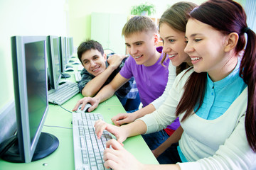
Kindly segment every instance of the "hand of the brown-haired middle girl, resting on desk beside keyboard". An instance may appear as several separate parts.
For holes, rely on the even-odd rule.
[[[112,123],[114,125],[123,125],[125,123],[132,123],[136,119],[136,115],[134,113],[119,113],[111,118]]]

